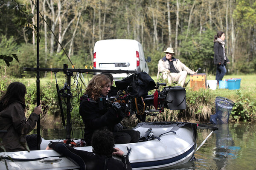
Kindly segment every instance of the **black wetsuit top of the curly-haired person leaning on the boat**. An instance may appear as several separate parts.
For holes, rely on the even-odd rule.
[[[123,156],[122,161],[119,161],[105,155],[76,150],[60,142],[53,142],[49,147],[76,161],[81,170],[132,170],[128,156]]]

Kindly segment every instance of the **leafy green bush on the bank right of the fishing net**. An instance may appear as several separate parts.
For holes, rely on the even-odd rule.
[[[250,101],[248,98],[245,98],[241,91],[238,90],[236,94],[239,96],[239,99],[235,102],[231,115],[233,118],[238,121],[256,121],[256,102]]]

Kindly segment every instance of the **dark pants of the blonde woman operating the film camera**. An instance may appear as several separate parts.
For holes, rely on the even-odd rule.
[[[137,130],[120,130],[113,132],[115,144],[135,143],[140,138],[140,132]]]

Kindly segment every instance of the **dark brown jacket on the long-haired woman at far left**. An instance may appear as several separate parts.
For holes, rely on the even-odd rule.
[[[0,130],[7,130],[7,133],[0,133],[3,146],[7,152],[26,150],[23,145],[26,143],[26,135],[35,128],[39,116],[31,113],[26,119],[24,109],[18,102],[14,102],[0,112]]]

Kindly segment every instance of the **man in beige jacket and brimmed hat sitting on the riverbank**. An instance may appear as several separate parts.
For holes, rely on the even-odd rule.
[[[173,81],[178,82],[181,87],[184,87],[187,74],[195,74],[195,71],[190,70],[179,59],[174,58],[173,48],[168,47],[166,56],[158,61],[158,72],[162,72],[163,79],[167,79],[169,84]]]

